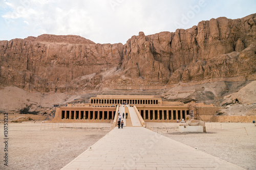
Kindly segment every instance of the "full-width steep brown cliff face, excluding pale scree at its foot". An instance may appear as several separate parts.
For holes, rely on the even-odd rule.
[[[124,45],[72,35],[0,41],[0,83],[63,92],[169,89],[241,76],[255,80],[255,23],[256,14],[220,17],[174,33],[140,32]]]

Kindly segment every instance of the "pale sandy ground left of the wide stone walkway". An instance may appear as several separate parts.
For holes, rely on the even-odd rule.
[[[62,128],[61,128],[62,127]],[[110,124],[9,123],[8,168],[0,124],[0,169],[60,169],[110,131]]]

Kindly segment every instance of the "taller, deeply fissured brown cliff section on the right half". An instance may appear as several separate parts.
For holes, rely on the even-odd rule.
[[[255,14],[220,17],[175,33],[140,33],[124,45],[122,68],[133,70],[128,77],[161,84],[254,74],[255,21]]]

